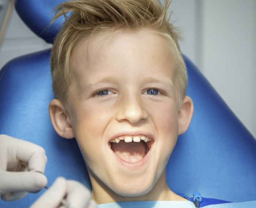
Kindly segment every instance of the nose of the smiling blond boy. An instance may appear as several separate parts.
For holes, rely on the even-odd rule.
[[[119,122],[127,121],[129,123],[137,123],[142,119],[146,119],[148,114],[143,106],[143,101],[135,96],[125,96],[121,99],[117,112],[117,120]]]

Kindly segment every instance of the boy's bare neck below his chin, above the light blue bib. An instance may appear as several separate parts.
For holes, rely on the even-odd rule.
[[[127,197],[113,192],[97,178],[91,177],[92,198],[97,204],[107,204],[120,201],[184,201],[186,199],[172,192],[166,182],[165,172],[159,178],[150,192],[142,196]]]

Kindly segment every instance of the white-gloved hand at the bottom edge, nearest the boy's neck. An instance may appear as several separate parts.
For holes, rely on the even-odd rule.
[[[61,203],[65,200],[65,205]],[[91,192],[77,181],[59,177],[30,208],[96,208]]]

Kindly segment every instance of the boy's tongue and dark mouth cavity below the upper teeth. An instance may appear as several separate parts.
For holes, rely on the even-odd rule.
[[[120,140],[119,143],[111,143],[111,149],[116,155],[127,162],[138,162],[143,159],[146,152],[144,142],[125,142]]]

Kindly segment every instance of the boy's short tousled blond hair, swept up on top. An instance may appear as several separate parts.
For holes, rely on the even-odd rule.
[[[138,30],[148,28],[165,38],[172,48],[181,98],[186,95],[187,71],[178,45],[179,35],[169,22],[168,7],[158,0],[75,0],[60,4],[53,21],[61,15],[65,23],[57,34],[51,55],[53,92],[64,104],[70,84],[71,53],[82,38],[110,29]]]

